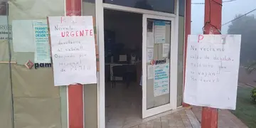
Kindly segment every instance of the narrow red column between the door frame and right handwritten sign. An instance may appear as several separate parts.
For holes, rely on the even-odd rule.
[[[186,73],[186,52],[187,52],[187,44],[188,44],[188,35],[191,34],[191,0],[186,0],[185,6],[185,43],[184,43],[184,71],[183,71],[183,91],[185,89],[185,73]],[[182,103],[183,107],[190,107],[190,105],[185,102]]]

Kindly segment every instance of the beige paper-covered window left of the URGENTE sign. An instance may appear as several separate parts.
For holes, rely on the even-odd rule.
[[[46,19],[46,16],[63,16],[62,0],[10,0],[9,24],[13,20]],[[23,24],[21,24],[23,26]],[[13,28],[14,30],[14,28]],[[11,35],[10,35],[11,36]],[[23,64],[34,60],[34,53],[14,53],[12,40],[11,85],[14,103],[14,127],[61,127],[60,91],[53,85],[51,68],[28,70]],[[30,47],[30,46],[26,46]]]

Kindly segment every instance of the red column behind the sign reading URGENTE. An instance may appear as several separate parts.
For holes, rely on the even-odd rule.
[[[81,16],[82,0],[65,0],[66,16]],[[68,127],[83,128],[83,85],[68,86]]]

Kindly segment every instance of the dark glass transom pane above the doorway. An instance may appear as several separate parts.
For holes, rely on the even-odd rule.
[[[161,11],[174,14],[174,0],[103,0],[107,4],[129,6],[132,8]]]

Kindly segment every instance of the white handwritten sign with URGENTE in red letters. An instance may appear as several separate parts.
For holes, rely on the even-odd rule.
[[[97,83],[92,16],[48,17],[54,85]]]

